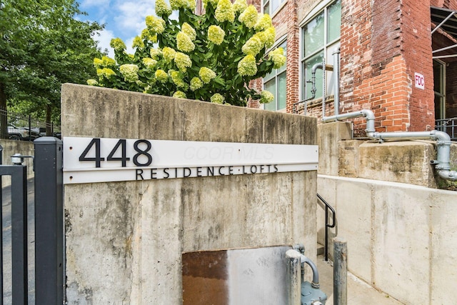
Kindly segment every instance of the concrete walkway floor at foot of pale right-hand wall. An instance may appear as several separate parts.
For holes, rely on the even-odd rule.
[[[321,290],[327,295],[326,305],[333,305],[333,262],[329,259],[325,261],[323,255],[317,257],[316,265],[319,271],[319,283]],[[348,272],[348,302],[351,305],[402,305],[391,296],[383,294],[366,282],[358,279]]]

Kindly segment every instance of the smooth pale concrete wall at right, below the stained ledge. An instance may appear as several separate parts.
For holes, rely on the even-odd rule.
[[[404,304],[457,304],[455,191],[319,175],[318,193],[336,209],[349,271]]]

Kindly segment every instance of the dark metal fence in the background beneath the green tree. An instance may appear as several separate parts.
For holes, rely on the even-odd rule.
[[[34,139],[46,135],[60,139],[60,126],[39,121],[31,115],[0,109],[1,139],[34,141]]]

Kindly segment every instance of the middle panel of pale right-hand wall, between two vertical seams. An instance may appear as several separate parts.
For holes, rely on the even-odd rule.
[[[405,304],[427,304],[430,296],[429,195],[390,183],[374,191],[372,284]]]

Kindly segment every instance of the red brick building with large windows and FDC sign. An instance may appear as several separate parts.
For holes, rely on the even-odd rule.
[[[442,129],[443,121],[457,123],[452,120],[457,116],[457,47],[452,47],[457,46],[457,1],[248,2],[270,14],[276,46],[286,49],[286,67],[253,84],[276,96],[266,109],[322,117],[325,91],[326,116],[333,115],[331,67],[340,49],[339,113],[371,109],[377,131],[428,131]],[[313,66],[324,61],[329,68],[325,75],[314,70],[313,93]],[[363,119],[354,120],[355,134],[363,136],[363,129]]]

